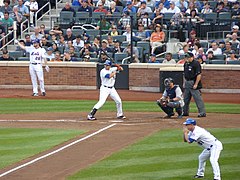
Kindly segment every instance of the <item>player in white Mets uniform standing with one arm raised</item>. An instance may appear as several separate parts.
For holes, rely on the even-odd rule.
[[[17,40],[16,43],[18,46],[30,54],[30,64],[29,64],[29,73],[31,76],[33,94],[32,96],[38,96],[38,83],[39,81],[40,90],[42,96],[46,96],[46,91],[44,87],[44,78],[43,78],[43,69],[42,64],[47,64],[47,59],[45,57],[46,50],[40,47],[40,40],[35,39],[33,41],[33,46],[24,46],[20,44]],[[49,72],[49,67],[46,65],[45,69]]]

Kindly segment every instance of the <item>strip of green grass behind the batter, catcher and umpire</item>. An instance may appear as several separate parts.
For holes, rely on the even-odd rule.
[[[97,101],[86,100],[42,100],[42,99],[0,99],[0,114],[34,112],[88,112]],[[239,104],[206,103],[208,113],[240,113]],[[191,103],[191,112],[197,112],[195,103]],[[123,101],[123,109],[128,112],[159,112],[155,102]],[[107,101],[101,111],[116,111],[115,103]]]

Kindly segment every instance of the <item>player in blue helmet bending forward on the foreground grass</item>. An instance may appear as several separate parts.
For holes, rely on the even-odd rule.
[[[222,143],[204,128],[197,126],[194,119],[188,118],[184,123],[184,141],[197,142],[204,150],[199,155],[199,166],[194,178],[203,178],[206,161],[210,159],[213,168],[214,180],[221,180],[218,159],[223,149]]]

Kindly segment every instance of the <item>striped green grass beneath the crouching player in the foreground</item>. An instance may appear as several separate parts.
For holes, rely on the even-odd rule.
[[[240,129],[211,129],[223,143],[219,163],[222,179],[240,176]],[[182,141],[182,131],[164,130],[69,177],[69,180],[190,180],[196,174],[202,149]],[[207,163],[206,180],[212,180]]]

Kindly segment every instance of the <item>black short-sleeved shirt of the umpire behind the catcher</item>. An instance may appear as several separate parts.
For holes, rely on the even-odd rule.
[[[198,61],[193,60],[184,63],[184,77],[187,81],[195,81],[199,74],[201,74],[201,65]]]

